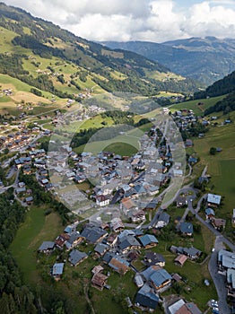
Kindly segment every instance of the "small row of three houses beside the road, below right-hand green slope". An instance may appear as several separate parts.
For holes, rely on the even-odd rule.
[[[225,228],[226,220],[216,218],[214,210],[221,205],[222,196],[208,193],[207,195],[207,208],[205,209],[205,217],[208,222],[213,225],[213,228],[222,231]]]

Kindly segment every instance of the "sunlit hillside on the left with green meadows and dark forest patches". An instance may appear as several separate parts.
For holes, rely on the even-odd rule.
[[[0,4],[0,73],[31,93],[81,100],[85,92],[193,92],[196,83],[133,52],[103,48],[22,9]],[[18,91],[19,92],[19,91]]]

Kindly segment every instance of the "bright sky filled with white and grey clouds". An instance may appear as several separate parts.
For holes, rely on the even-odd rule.
[[[235,38],[235,0],[3,0],[91,40]]]

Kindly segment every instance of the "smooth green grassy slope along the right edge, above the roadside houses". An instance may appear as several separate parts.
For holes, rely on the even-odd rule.
[[[225,119],[226,117],[223,117]],[[231,119],[234,120],[235,113],[231,113]],[[212,126],[205,134],[204,138],[196,138],[194,147],[190,153],[196,152],[200,157],[200,162],[194,167],[197,177],[201,170],[208,166],[207,173],[212,176],[209,188],[214,194],[224,196],[222,208],[216,212],[216,215],[226,219],[225,231],[232,239],[231,214],[234,208],[235,191],[235,125]],[[211,147],[221,147],[222,152],[211,155]]]

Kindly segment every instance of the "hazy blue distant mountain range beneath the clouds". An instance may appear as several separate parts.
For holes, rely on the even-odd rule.
[[[235,39],[214,37],[179,39],[162,44],[145,41],[105,41],[158,61],[174,73],[209,85],[235,70]]]

